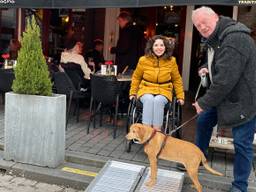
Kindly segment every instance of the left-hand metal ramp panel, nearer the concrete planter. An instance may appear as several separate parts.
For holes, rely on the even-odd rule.
[[[93,180],[86,192],[131,192],[135,190],[144,166],[109,161]]]

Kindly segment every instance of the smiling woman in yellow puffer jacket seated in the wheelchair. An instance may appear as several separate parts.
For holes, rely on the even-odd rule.
[[[174,42],[156,35],[147,42],[145,56],[139,59],[132,76],[130,99],[143,103],[142,123],[161,130],[165,104],[172,101],[173,88],[184,104],[182,78],[175,57]]]

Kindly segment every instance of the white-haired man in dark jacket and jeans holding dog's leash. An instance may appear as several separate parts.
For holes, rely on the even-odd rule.
[[[218,16],[211,8],[193,11],[192,21],[207,39],[211,85],[193,104],[199,114],[196,144],[207,155],[213,127],[232,127],[234,181],[230,192],[247,192],[256,128],[256,46],[242,23]]]

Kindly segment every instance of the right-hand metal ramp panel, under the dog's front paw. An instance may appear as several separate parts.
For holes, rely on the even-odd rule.
[[[146,170],[136,192],[180,192],[183,185],[184,173],[158,169],[157,183],[154,187],[148,188],[145,185],[149,178],[149,168]]]

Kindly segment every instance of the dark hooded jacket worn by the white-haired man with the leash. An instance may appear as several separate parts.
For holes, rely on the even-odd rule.
[[[212,84],[198,100],[217,108],[218,125],[235,127],[256,116],[256,46],[242,23],[220,17],[207,41],[214,49]]]

